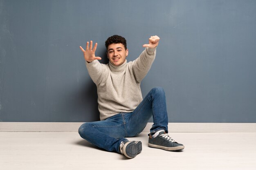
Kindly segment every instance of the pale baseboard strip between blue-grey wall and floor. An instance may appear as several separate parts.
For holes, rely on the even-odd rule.
[[[0,122],[0,132],[77,132],[82,122]],[[148,123],[143,132],[149,132]],[[256,132],[256,123],[169,123],[169,132]]]

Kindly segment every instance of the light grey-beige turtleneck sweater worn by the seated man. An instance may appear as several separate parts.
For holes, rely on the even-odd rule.
[[[121,66],[85,62],[92,81],[97,86],[100,119],[121,112],[132,112],[142,101],[140,83],[155,60],[156,48],[146,49],[139,57]]]

